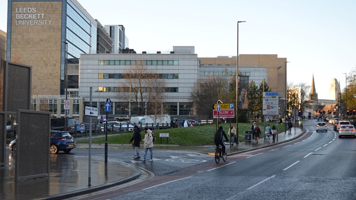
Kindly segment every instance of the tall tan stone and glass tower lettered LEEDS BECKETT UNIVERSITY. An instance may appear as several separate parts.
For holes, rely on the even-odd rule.
[[[65,96],[68,63],[68,93],[78,96],[79,58],[96,53],[96,24],[75,0],[9,0],[7,60],[32,66],[32,95],[47,98]]]

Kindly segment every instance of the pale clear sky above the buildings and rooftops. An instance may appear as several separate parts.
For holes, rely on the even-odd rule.
[[[287,82],[311,85],[329,99],[356,68],[356,1],[350,0],[77,0],[102,25],[124,25],[137,52],[195,46],[198,57],[277,54],[287,58]],[[0,30],[7,32],[0,1]]]

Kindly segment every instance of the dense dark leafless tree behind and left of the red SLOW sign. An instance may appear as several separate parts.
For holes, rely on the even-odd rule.
[[[190,101],[194,104],[200,116],[213,117],[212,105],[221,100],[229,101],[229,78],[222,76],[208,76],[199,78],[191,91]]]

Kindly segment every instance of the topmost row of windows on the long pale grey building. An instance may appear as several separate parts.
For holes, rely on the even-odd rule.
[[[99,60],[99,65],[179,65],[179,60]]]

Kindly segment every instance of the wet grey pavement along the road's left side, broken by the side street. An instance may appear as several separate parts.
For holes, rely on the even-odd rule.
[[[281,132],[278,141],[272,143],[260,138],[259,143],[240,142],[239,145],[226,143],[227,155],[239,154],[267,146],[281,144],[299,138],[305,130],[295,127],[292,134]],[[88,144],[77,144],[76,149],[89,149]],[[103,144],[92,144],[92,149],[104,149]],[[131,149],[130,144],[110,145],[108,149]],[[176,146],[162,145],[159,140],[155,142],[155,151],[190,151],[204,154],[210,152],[212,146]],[[0,166],[0,199],[64,199],[91,193],[115,185],[121,185],[140,177],[141,172],[132,165],[123,162],[108,160],[105,164],[102,158],[75,155],[50,155],[49,176],[30,180],[15,181],[15,153],[7,150],[6,166]],[[8,156],[9,155],[9,156]],[[90,166],[90,167],[89,167]],[[91,171],[89,175],[89,170]]]

